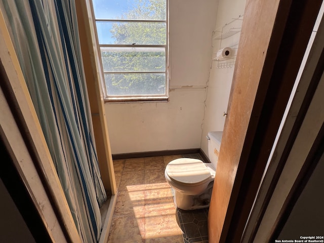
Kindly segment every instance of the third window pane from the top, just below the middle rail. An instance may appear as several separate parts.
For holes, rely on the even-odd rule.
[[[102,47],[104,72],[164,72],[166,70],[165,48]]]

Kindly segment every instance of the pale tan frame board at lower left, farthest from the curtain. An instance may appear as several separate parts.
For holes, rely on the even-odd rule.
[[[24,186],[30,192],[30,197],[51,240],[67,242],[63,229],[60,224],[57,224],[58,219],[51,207],[50,198],[33,164],[2,89],[0,89],[0,104],[0,138],[4,141]]]

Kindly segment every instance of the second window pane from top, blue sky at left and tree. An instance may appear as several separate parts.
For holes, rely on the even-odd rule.
[[[166,23],[97,21],[99,44],[166,45]]]

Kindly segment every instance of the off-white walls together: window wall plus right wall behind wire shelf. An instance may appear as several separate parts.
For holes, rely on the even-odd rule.
[[[244,10],[245,0],[170,1],[169,102],[106,103],[113,154],[188,148],[208,154],[208,132],[224,127],[234,70],[217,68],[213,53],[239,40],[237,33],[220,43],[213,31]]]

